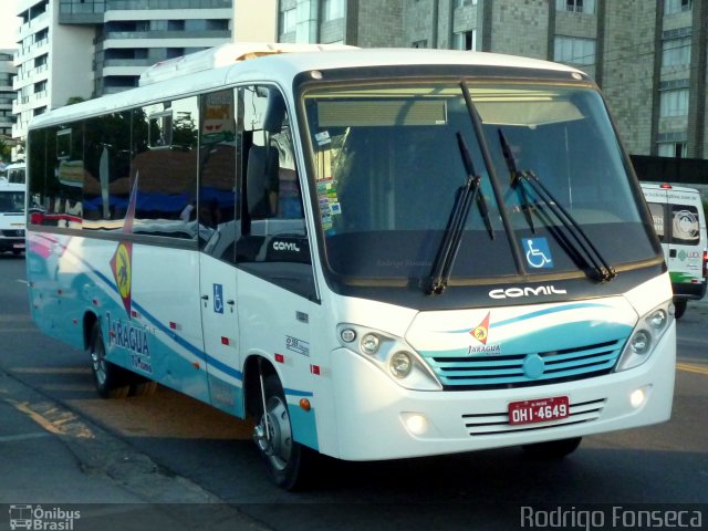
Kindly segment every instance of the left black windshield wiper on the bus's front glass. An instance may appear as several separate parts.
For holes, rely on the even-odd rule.
[[[487,231],[491,239],[494,238],[494,231],[491,227],[489,218],[489,209],[487,208],[487,201],[485,197],[479,192],[481,188],[481,177],[476,175],[475,166],[472,165],[472,157],[469,154],[467,144],[462,134],[457,132],[457,145],[460,149],[462,163],[467,171],[467,178],[465,184],[460,186],[455,194],[455,205],[450,211],[447,226],[445,228],[445,235],[438,252],[435,257],[435,263],[430,273],[430,282],[426,288],[426,293],[439,295],[447,288],[447,282],[452,271],[452,264],[457,258],[457,253],[460,249],[460,241],[462,240],[462,233],[465,225],[467,223],[467,217],[472,202],[477,202],[479,212],[485,221]]]

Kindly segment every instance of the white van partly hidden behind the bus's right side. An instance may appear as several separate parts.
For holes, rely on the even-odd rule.
[[[689,300],[706,294],[708,241],[700,192],[668,184],[642,183],[664,257],[671,275],[676,317]]]

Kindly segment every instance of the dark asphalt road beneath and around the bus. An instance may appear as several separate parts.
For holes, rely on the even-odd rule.
[[[524,506],[708,503],[708,304],[691,305],[678,324],[669,423],[589,437],[553,464],[529,460],[517,448],[372,464],[325,460],[320,486],[293,494],[266,480],[244,423],[163,388],[154,397],[98,399],[84,353],[37,333],[23,267],[0,257],[0,368],[168,476],[268,528],[508,529]]]

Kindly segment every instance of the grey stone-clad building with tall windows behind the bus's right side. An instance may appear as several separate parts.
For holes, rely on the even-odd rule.
[[[603,88],[629,153],[708,158],[708,0],[280,0],[278,35],[568,63]]]

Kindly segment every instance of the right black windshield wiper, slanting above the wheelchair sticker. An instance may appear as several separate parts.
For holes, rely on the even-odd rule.
[[[584,258],[586,264],[590,266],[594,271],[595,279],[603,282],[614,279],[617,275],[615,269],[610,266],[610,263],[600,253],[592,240],[587,237],[587,233],[577,223],[577,221],[575,221],[573,216],[561,205],[561,202],[555,199],[549,188],[543,183],[541,183],[541,180],[539,180],[533,171],[519,171],[513,155],[511,154],[509,143],[507,142],[507,137],[501,129],[498,131],[499,142],[501,143],[501,150],[503,153],[504,159],[507,160],[507,167],[509,168],[509,173],[511,175],[511,188],[522,188],[522,209],[527,215],[527,220],[529,221],[529,227],[531,227],[531,230],[535,232],[533,228],[533,221],[531,219],[531,210],[528,196],[523,190],[525,184],[528,184],[533,189],[541,202],[551,212],[553,212],[561,225],[563,225],[563,227],[565,227],[565,229],[568,229],[568,231],[571,233],[573,240],[575,240],[575,244],[573,244],[572,240],[568,237],[564,237],[563,240],[569,247],[571,247],[573,251],[575,251],[576,254],[580,254]],[[560,233],[556,233],[556,237],[560,236]]]

